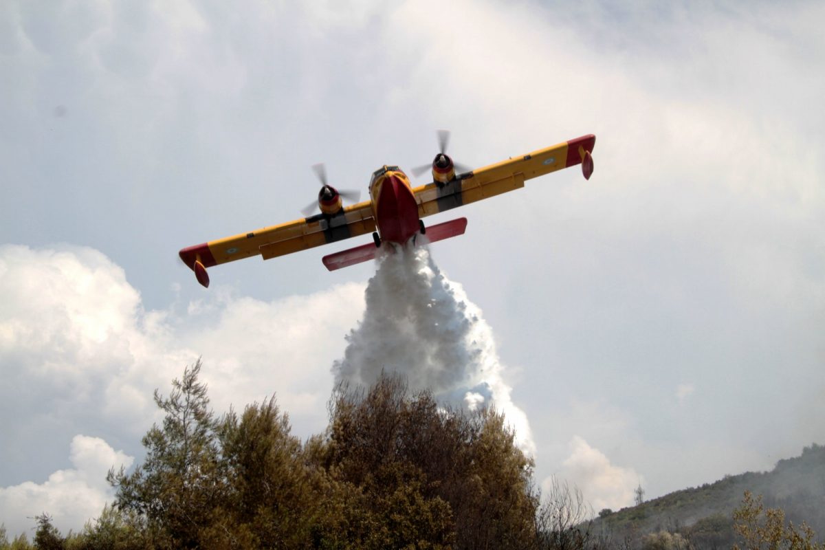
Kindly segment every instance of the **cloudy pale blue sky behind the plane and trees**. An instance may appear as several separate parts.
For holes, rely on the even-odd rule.
[[[0,2],[0,522],[78,529],[203,358],[217,412],[324,429],[375,266],[181,247],[596,134],[595,172],[431,248],[495,340],[535,477],[595,510],[772,468],[825,429],[822,2]],[[423,180],[417,184],[425,183]],[[455,217],[452,211],[430,223]],[[358,241],[358,242],[356,242]]]

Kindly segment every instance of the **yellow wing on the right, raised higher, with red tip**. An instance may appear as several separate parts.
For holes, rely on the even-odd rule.
[[[416,187],[413,193],[418,202],[418,215],[423,218],[519,189],[524,187],[525,180],[577,164],[582,164],[582,172],[589,178],[593,172],[591,153],[595,144],[596,136],[589,134],[461,174],[446,184]]]

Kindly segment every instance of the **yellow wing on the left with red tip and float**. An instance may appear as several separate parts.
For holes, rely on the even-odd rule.
[[[186,247],[179,254],[181,260],[195,271],[198,282],[209,286],[206,267],[243,260],[259,254],[264,260],[269,260],[373,231],[375,219],[372,214],[372,203],[365,200],[347,206],[332,216],[317,214],[310,218],[296,219],[250,233]]]

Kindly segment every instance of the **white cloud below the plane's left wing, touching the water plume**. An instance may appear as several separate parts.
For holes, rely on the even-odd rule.
[[[363,310],[364,285],[353,283],[273,302],[233,298],[187,320],[206,317],[205,327],[178,334],[209,364],[204,379],[216,409],[276,393],[299,433],[309,435],[326,425],[332,361]]]

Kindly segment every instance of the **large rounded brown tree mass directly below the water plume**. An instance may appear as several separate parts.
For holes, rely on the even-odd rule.
[[[382,374],[366,391],[337,388],[327,437],[313,446],[334,482],[365,496],[362,521],[386,534],[374,548],[534,542],[532,462],[495,411],[439,407],[431,393],[410,396],[402,378]]]

